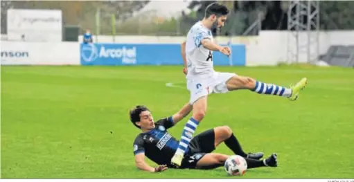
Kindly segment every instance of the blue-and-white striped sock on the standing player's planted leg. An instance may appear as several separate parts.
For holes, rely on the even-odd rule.
[[[193,134],[195,129],[197,129],[199,121],[195,120],[194,118],[190,118],[186,125],[184,126],[183,133],[181,136],[181,140],[179,140],[179,145],[177,148],[176,153],[182,154],[186,152],[186,149],[193,138]]]

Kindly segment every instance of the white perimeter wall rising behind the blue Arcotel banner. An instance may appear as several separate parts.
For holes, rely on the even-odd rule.
[[[306,36],[306,32],[301,33]],[[301,35],[300,35],[301,36]],[[112,36],[95,36],[94,41],[102,43],[113,43]],[[82,36],[79,37],[82,41]],[[124,44],[180,44],[185,37],[168,37],[168,36],[116,36],[115,43]],[[220,44],[229,42],[229,37],[217,37]],[[232,37],[232,44],[246,45],[246,65],[247,66],[273,66],[279,62],[287,60],[287,31],[260,31],[258,36],[251,37]],[[319,32],[319,54],[326,53],[327,49],[332,45],[353,45],[354,30],[337,30],[337,31],[321,31]],[[299,55],[300,62],[306,62],[306,54]]]

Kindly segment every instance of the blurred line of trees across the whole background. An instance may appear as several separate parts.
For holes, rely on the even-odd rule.
[[[64,25],[112,35],[112,16],[118,35],[186,35],[215,1],[191,1],[188,13],[166,19],[157,12],[139,12],[150,1],[1,1],[1,33],[6,33],[8,8],[60,9]],[[289,1],[219,1],[231,10],[221,35],[242,35],[260,18],[262,30],[287,30]],[[172,2],[171,2],[171,6]],[[320,1],[321,30],[354,30],[354,1]],[[139,13],[137,13],[139,12]],[[215,32],[214,32],[215,33]],[[252,32],[256,33],[256,32]]]

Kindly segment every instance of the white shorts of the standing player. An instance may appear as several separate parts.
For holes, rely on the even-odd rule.
[[[211,93],[227,93],[227,80],[232,78],[235,73],[214,72],[213,76],[204,79],[187,80],[187,89],[191,92],[190,104],[199,98]]]

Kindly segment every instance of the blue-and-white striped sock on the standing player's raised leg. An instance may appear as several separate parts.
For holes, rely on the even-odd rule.
[[[252,91],[266,95],[279,95],[283,97],[290,97],[292,95],[292,89],[277,86],[274,84],[265,84],[263,82],[256,81],[256,87]]]

